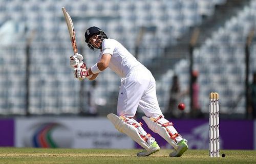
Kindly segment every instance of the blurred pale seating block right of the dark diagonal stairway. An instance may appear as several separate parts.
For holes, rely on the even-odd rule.
[[[202,111],[205,113],[208,112],[208,94],[212,91],[220,94],[221,112],[245,113],[244,49],[246,37],[255,26],[255,6],[256,1],[251,1],[237,16],[230,18],[224,27],[213,32],[200,48],[194,50],[194,69],[199,71],[199,100]],[[256,70],[255,59],[253,45],[250,56],[250,78]],[[186,89],[189,85],[187,78],[189,61],[181,60],[176,64],[174,71],[180,76],[181,88]],[[168,73],[163,76],[168,76]],[[166,85],[170,83],[171,80],[167,81]],[[185,103],[189,104],[189,99]]]

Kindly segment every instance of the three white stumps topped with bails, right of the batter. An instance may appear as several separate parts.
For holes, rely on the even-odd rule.
[[[220,157],[219,94],[211,92],[209,98],[209,155]]]

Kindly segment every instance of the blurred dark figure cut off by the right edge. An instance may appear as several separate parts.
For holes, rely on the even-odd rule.
[[[249,113],[252,119],[256,119],[256,72],[253,73],[253,80],[249,88]]]

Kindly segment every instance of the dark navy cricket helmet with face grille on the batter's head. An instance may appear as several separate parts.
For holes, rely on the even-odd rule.
[[[89,29],[86,30],[86,33],[84,33],[84,37],[86,38],[86,43],[88,43],[87,45],[89,46],[90,49],[95,49],[90,43],[89,40],[90,38],[95,35],[95,34],[99,34],[99,36],[101,36],[102,40],[103,39],[108,39],[108,36],[106,36],[105,32],[103,30],[101,30],[98,27],[90,27]],[[99,48],[100,49],[100,48]]]

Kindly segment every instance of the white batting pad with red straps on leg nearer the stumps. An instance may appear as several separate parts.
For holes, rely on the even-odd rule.
[[[174,149],[178,148],[177,143],[175,142],[174,139],[172,139],[170,137],[168,131],[166,130],[166,128],[168,128],[168,130],[170,130],[171,132],[177,133],[177,131],[174,129],[173,126],[169,126],[169,127],[165,128],[165,127],[161,126],[160,124],[154,122],[150,118],[147,118],[146,116],[142,116],[142,119],[145,121],[145,123],[147,124],[148,128],[150,128],[152,131],[154,131],[155,133],[158,133],[161,137],[163,137],[170,145],[172,145],[174,147]],[[164,118],[162,118],[160,120],[162,120],[162,121],[166,120],[166,119],[164,119],[164,120],[163,119]],[[160,120],[159,120],[159,122],[160,122]],[[169,122],[169,121],[167,121],[167,122]]]

